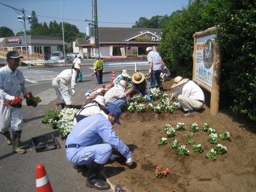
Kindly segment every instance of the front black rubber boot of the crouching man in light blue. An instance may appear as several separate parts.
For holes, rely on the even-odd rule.
[[[102,179],[99,178],[99,174],[101,173],[102,169],[103,169],[103,165],[98,164],[94,161],[91,163],[91,166],[87,175],[87,181],[86,181],[87,187],[94,187],[95,189],[98,189],[98,190],[106,190],[110,188],[109,183],[102,181]]]

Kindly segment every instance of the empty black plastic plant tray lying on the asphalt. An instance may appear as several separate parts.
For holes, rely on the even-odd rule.
[[[59,142],[53,134],[33,137],[32,143],[37,152],[61,148],[61,145],[59,145]]]

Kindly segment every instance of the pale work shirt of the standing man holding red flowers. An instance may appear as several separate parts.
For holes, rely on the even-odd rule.
[[[0,99],[8,100],[10,96],[19,96],[27,94],[25,87],[25,78],[23,73],[15,69],[10,69],[8,65],[0,69]]]

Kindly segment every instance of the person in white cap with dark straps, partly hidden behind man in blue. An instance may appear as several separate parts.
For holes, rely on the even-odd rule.
[[[99,113],[102,109],[106,108],[105,98],[98,95],[91,103],[83,105],[81,109],[75,114],[73,125],[77,125],[83,118],[89,117],[93,114]]]

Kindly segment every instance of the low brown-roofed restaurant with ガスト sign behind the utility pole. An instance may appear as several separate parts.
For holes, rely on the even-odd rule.
[[[145,56],[146,47],[157,49],[162,39],[162,29],[99,27],[99,51],[101,58]],[[89,57],[95,57],[93,37],[77,38],[75,46],[79,53],[87,50]]]

